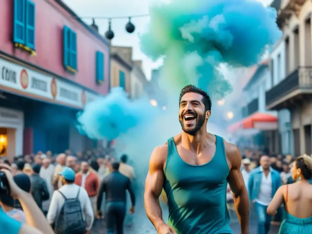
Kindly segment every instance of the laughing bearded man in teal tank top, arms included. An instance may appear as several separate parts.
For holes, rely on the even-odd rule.
[[[229,183],[241,234],[247,234],[249,199],[239,150],[207,133],[211,100],[206,92],[188,85],[179,105],[182,133],[156,147],[150,158],[144,194],[147,216],[158,234],[233,233],[226,203]],[[168,199],[168,225],[159,206],[162,189]]]

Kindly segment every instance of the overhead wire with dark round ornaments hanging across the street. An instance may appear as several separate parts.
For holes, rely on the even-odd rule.
[[[133,33],[135,31],[135,26],[134,24],[131,22],[131,18],[139,18],[139,17],[148,17],[149,14],[145,14],[145,15],[135,15],[135,16],[120,16],[120,17],[79,17],[80,19],[92,19],[93,24],[95,24],[95,19],[107,19],[108,20],[108,30],[105,32],[105,37],[108,40],[112,40],[114,38],[114,32],[112,30],[111,27],[111,23],[112,23],[112,19],[125,19],[128,18],[129,21],[128,23],[125,25],[125,29],[128,33]]]

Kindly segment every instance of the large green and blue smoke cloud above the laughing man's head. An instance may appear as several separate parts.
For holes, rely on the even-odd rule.
[[[141,49],[154,60],[164,57],[162,87],[176,91],[193,84],[225,96],[231,85],[219,65],[254,65],[281,37],[275,9],[255,0],[172,0],[150,15]]]

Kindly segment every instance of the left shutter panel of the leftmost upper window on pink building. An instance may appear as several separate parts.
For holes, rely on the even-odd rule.
[[[14,0],[13,42],[25,44],[25,0]]]

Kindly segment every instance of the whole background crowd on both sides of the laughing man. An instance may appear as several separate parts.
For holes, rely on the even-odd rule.
[[[16,157],[13,162],[3,158],[1,165],[10,168],[15,178],[21,174],[29,176],[31,188],[20,186],[21,182],[19,186],[32,194],[54,233],[91,233],[94,220],[105,217],[108,233],[121,234],[126,211],[135,212],[134,168],[127,164],[127,155],[117,159],[113,150],[109,154],[99,152],[38,152]],[[297,233],[295,228],[308,233],[312,228],[312,158],[266,155],[252,149],[245,149],[242,155],[241,172],[250,206],[258,217],[257,233],[267,234],[272,224],[281,224],[280,233]],[[127,190],[130,196],[126,195]],[[231,204],[230,188],[228,195]],[[0,205],[20,226],[30,222],[22,199],[0,194]]]

